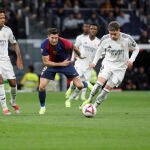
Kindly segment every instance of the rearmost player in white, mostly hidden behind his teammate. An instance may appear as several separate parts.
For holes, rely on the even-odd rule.
[[[80,34],[80,35],[78,35],[77,37],[76,37],[76,40],[75,40],[75,46],[81,51],[81,49],[83,48],[83,46],[82,46],[82,41],[84,41],[84,39],[86,39],[87,37],[88,37],[88,35],[89,35],[89,29],[90,29],[90,25],[88,24],[88,23],[84,23],[83,24],[83,27],[82,27],[82,29],[83,29],[83,33],[82,34]],[[76,57],[76,55],[74,54],[74,52],[73,52],[73,54],[72,54],[72,61],[73,62],[75,62],[76,61],[76,59],[78,59],[77,57]],[[82,66],[82,64],[81,64],[81,66]],[[77,70],[77,72],[78,72],[78,70]],[[81,76],[80,76],[81,77]],[[70,95],[71,95],[71,93],[72,93],[72,91],[75,89],[75,86],[74,86],[74,84],[73,84],[73,82],[71,81],[70,82],[70,86],[69,86],[69,88],[68,88],[68,90],[67,90],[67,92],[66,92],[66,99],[68,99],[69,97],[70,97]],[[87,88],[83,88],[82,90],[81,90],[81,99],[82,100],[85,100],[85,95],[86,95],[86,90],[87,90]],[[79,96],[77,96],[76,97],[77,99],[79,98]]]

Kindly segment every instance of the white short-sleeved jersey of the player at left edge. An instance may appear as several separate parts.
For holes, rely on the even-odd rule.
[[[1,60],[7,60],[9,58],[8,42],[14,44],[16,43],[16,39],[13,35],[12,30],[9,27],[4,25],[0,29],[0,59]]]

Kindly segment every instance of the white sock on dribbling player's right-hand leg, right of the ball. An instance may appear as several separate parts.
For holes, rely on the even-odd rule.
[[[110,92],[109,90],[103,89],[101,93],[97,96],[94,106],[98,107],[107,98],[109,92]]]

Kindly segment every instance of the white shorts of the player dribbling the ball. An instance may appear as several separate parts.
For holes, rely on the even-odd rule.
[[[110,87],[118,87],[125,75],[126,69],[113,69],[102,66],[98,77],[103,77],[107,80],[107,85]]]

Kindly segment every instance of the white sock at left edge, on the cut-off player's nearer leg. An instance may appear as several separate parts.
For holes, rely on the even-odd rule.
[[[7,104],[6,104],[6,94],[4,90],[4,84],[0,84],[0,103],[2,105],[2,109],[8,109]]]

